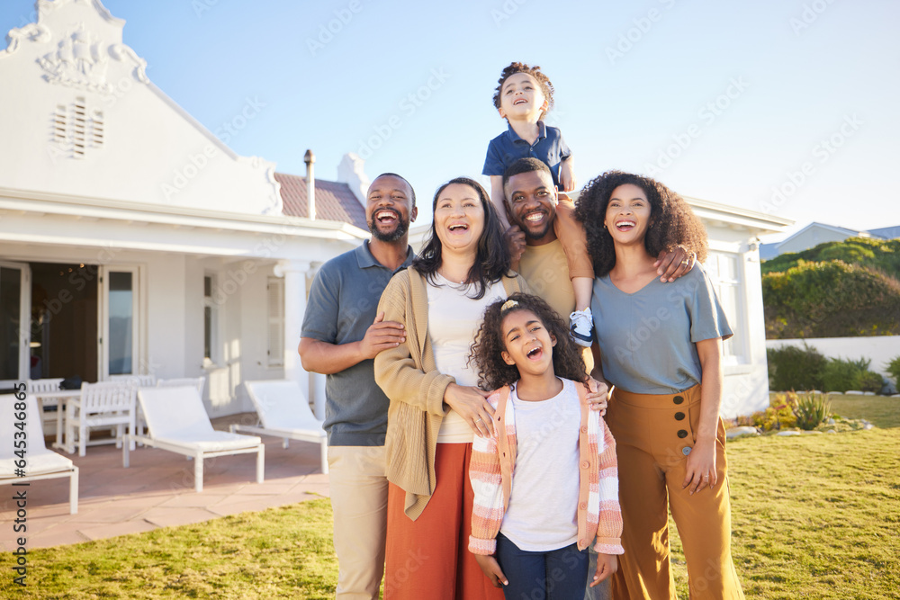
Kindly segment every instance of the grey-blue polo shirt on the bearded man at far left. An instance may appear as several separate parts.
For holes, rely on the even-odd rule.
[[[415,258],[407,249],[406,268]],[[316,274],[303,316],[301,336],[329,344],[358,342],[375,320],[378,300],[397,271],[375,260],[369,242],[329,260]],[[329,445],[383,446],[388,398],[375,385],[367,359],[326,376],[325,423]]]

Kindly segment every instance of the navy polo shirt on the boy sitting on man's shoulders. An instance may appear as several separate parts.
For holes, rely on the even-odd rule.
[[[550,167],[554,184],[560,184],[560,163],[572,156],[572,151],[563,141],[563,134],[555,127],[547,127],[544,121],[537,121],[540,131],[534,144],[518,137],[511,125],[488,144],[488,155],[484,157],[482,175],[503,175],[509,166],[519,158],[534,157]]]

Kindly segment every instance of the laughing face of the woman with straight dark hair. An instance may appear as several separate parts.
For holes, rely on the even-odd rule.
[[[434,228],[445,251],[475,252],[484,230],[484,206],[475,188],[447,185],[435,202]]]

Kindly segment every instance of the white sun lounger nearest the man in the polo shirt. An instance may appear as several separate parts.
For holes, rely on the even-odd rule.
[[[231,425],[231,431],[281,437],[284,448],[287,448],[288,440],[319,443],[322,472],[328,473],[328,434],[322,429],[322,422],[312,414],[300,385],[296,381],[270,380],[245,381],[244,386],[259,420],[257,425]]]

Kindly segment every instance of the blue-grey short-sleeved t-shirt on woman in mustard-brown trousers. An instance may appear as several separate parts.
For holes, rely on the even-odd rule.
[[[697,342],[733,336],[709,276],[698,264],[671,283],[654,278],[641,290],[594,280],[590,300],[603,374],[636,394],[673,394],[700,382]]]

